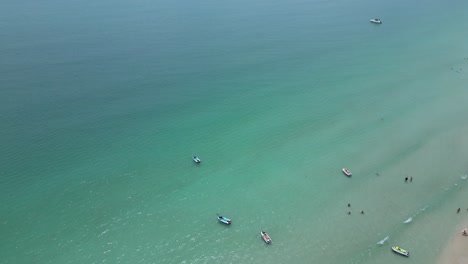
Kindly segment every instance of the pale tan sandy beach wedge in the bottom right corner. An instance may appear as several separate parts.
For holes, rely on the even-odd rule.
[[[457,226],[454,234],[447,241],[442,250],[438,264],[465,264],[468,263],[468,236],[462,235],[462,230],[468,228],[468,217]]]

